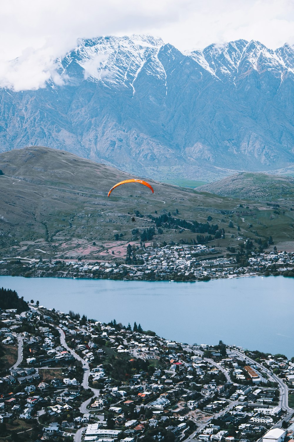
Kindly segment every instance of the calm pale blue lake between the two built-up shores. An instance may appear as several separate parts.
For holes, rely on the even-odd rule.
[[[166,339],[236,344],[294,356],[294,279],[283,276],[209,282],[0,276],[0,287],[26,301],[73,310],[101,322],[134,321]]]

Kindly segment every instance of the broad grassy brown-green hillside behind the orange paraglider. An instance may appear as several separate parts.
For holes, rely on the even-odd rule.
[[[171,213],[172,217],[199,223],[206,223],[210,216],[209,223],[226,232],[225,239],[211,244],[223,251],[238,244],[241,236],[272,236],[277,245],[294,240],[293,200],[279,201],[277,210],[260,201],[227,198],[153,180],[149,182],[154,194],[141,184],[128,184],[116,188],[108,198],[113,184],[132,175],[44,147],[4,152],[0,154],[0,169],[4,173],[0,176],[0,258],[123,257],[130,241],[138,243],[144,229],[155,227],[149,214],[157,217]],[[134,214],[136,221],[132,222]],[[230,221],[233,228],[228,227]],[[156,242],[191,241],[197,236],[189,229],[167,225],[155,233]]]

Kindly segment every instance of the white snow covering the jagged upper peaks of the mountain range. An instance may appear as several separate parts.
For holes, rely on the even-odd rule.
[[[166,72],[158,58],[159,51],[172,57],[171,46],[164,45],[161,38],[152,35],[80,39],[62,64],[66,70],[66,66],[74,61],[84,70],[85,79],[102,81],[110,87],[127,87],[134,93],[134,82],[143,71],[163,81],[166,86]],[[184,54],[214,78],[232,83],[252,69],[261,73],[267,70],[281,80],[285,71],[294,72],[294,48],[287,43],[272,50],[261,42],[239,39],[214,43],[203,50],[184,51]]]

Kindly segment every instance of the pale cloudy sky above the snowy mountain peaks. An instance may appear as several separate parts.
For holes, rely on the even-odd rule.
[[[133,33],[179,50],[238,38],[275,49],[294,44],[294,0],[4,0],[0,86],[36,89],[49,76],[58,83],[54,60],[77,38]]]

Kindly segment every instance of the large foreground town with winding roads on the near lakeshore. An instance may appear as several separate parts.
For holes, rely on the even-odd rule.
[[[1,290],[16,307],[0,310],[0,440],[294,438],[294,358],[172,342]]]

